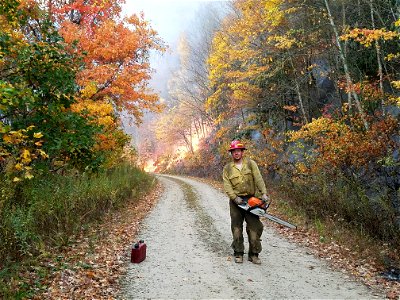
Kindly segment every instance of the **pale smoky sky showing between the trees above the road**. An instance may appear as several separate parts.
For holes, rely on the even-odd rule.
[[[126,15],[143,12],[144,19],[149,21],[150,26],[158,32],[159,37],[168,46],[166,53],[160,54],[155,51],[150,53],[150,66],[154,72],[149,81],[149,87],[159,94],[160,99],[167,106],[173,101],[169,93],[171,78],[181,68],[182,57],[179,50],[185,50],[179,49],[180,38],[186,35],[190,39],[199,39],[200,33],[204,32],[204,26],[210,26],[210,24],[204,24],[207,13],[210,14],[216,9],[224,11],[223,3],[226,5],[228,1],[130,0],[123,6],[123,12]],[[182,47],[182,43],[180,46]],[[140,128],[136,128],[129,124],[129,116],[124,116],[125,132],[133,137],[136,149],[141,148],[142,142],[149,143],[150,139],[155,140],[154,132],[150,131],[157,117],[153,113],[145,113],[143,123]],[[159,152],[158,149],[155,152]]]

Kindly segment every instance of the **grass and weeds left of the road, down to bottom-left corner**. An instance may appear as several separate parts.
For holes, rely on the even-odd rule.
[[[149,191],[154,177],[129,164],[98,174],[46,174],[2,198],[0,298],[26,299],[63,268],[62,251],[127,200]],[[49,264],[59,260],[59,264]]]

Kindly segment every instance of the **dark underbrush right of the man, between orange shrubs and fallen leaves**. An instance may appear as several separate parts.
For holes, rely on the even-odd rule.
[[[380,248],[375,259],[398,260],[400,228],[391,201],[368,197],[356,181],[337,175],[286,178],[272,187],[285,203],[281,209],[316,230],[321,242],[335,240],[355,251]],[[395,262],[400,264],[400,261]]]

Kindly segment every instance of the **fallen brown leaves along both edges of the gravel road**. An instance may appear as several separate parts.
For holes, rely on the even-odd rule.
[[[222,189],[219,183],[203,181]],[[32,299],[116,299],[119,280],[126,273],[129,261],[128,247],[135,242],[141,221],[161,194],[161,185],[157,185],[150,195],[110,214],[101,225],[66,247],[56,259],[44,259],[42,265],[54,271],[42,279],[42,289]],[[149,202],[148,199],[154,201]],[[344,276],[363,282],[371,289],[383,290],[387,299],[399,299],[400,282],[391,280],[390,276],[385,277],[382,263],[372,256],[365,258],[360,252],[335,241],[321,241],[320,234],[312,228],[299,226],[297,230],[292,230],[273,222],[268,222],[268,226],[273,226],[282,236],[307,247],[310,255],[326,260],[332,269],[340,270]],[[25,275],[31,281],[37,280],[34,271]],[[43,287],[47,290],[43,291]]]

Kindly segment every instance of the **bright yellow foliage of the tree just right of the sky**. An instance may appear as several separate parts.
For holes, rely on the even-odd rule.
[[[208,59],[209,80],[214,93],[208,98],[207,110],[215,110],[222,120],[224,109],[252,107],[260,99],[259,80],[271,70],[276,48],[300,46],[286,32],[287,8],[283,0],[234,1],[236,14],[229,15],[214,35]],[[286,26],[286,27],[285,27]],[[283,28],[283,30],[282,30]]]

